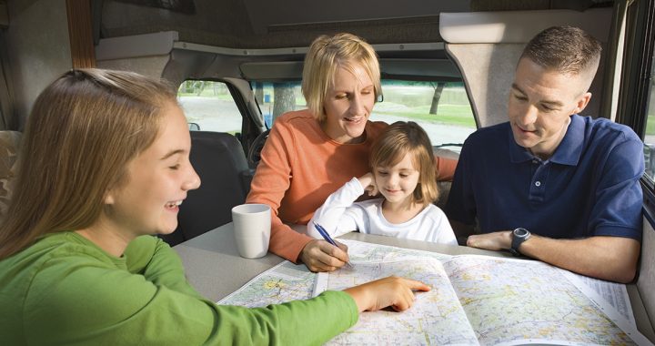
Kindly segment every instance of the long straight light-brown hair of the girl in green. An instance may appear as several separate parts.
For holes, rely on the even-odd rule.
[[[174,88],[131,72],[78,69],[47,86],[27,119],[0,259],[46,233],[92,226],[171,104]]]

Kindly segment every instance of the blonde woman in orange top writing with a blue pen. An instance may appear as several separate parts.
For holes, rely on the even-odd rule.
[[[345,246],[296,232],[328,196],[368,172],[370,148],[388,127],[369,120],[381,95],[373,47],[350,34],[319,36],[309,46],[302,92],[307,109],[278,117],[261,153],[248,203],[266,203],[272,215],[269,250],[309,270],[328,271],[348,261]],[[457,161],[436,158],[438,180],[449,180]]]

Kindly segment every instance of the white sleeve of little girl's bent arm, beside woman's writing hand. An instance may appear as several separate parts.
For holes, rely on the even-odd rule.
[[[325,203],[317,209],[312,219],[307,223],[307,234],[316,239],[322,239],[314,229],[314,222],[323,226],[332,237],[338,237],[353,230],[357,230],[357,220],[348,209],[357,209],[353,203],[364,193],[364,188],[358,178],[352,178],[343,187],[329,195]],[[360,213],[359,213],[360,214]]]

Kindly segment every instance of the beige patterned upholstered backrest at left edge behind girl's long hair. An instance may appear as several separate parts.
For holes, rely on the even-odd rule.
[[[0,221],[5,218],[13,192],[21,133],[0,131]]]

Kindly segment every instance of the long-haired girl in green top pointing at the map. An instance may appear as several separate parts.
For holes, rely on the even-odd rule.
[[[36,99],[0,227],[0,335],[23,344],[318,344],[358,311],[405,310],[424,284],[377,280],[262,309],[217,306],[186,281],[172,232],[200,185],[173,89],[75,70]],[[307,332],[310,331],[310,332]]]

